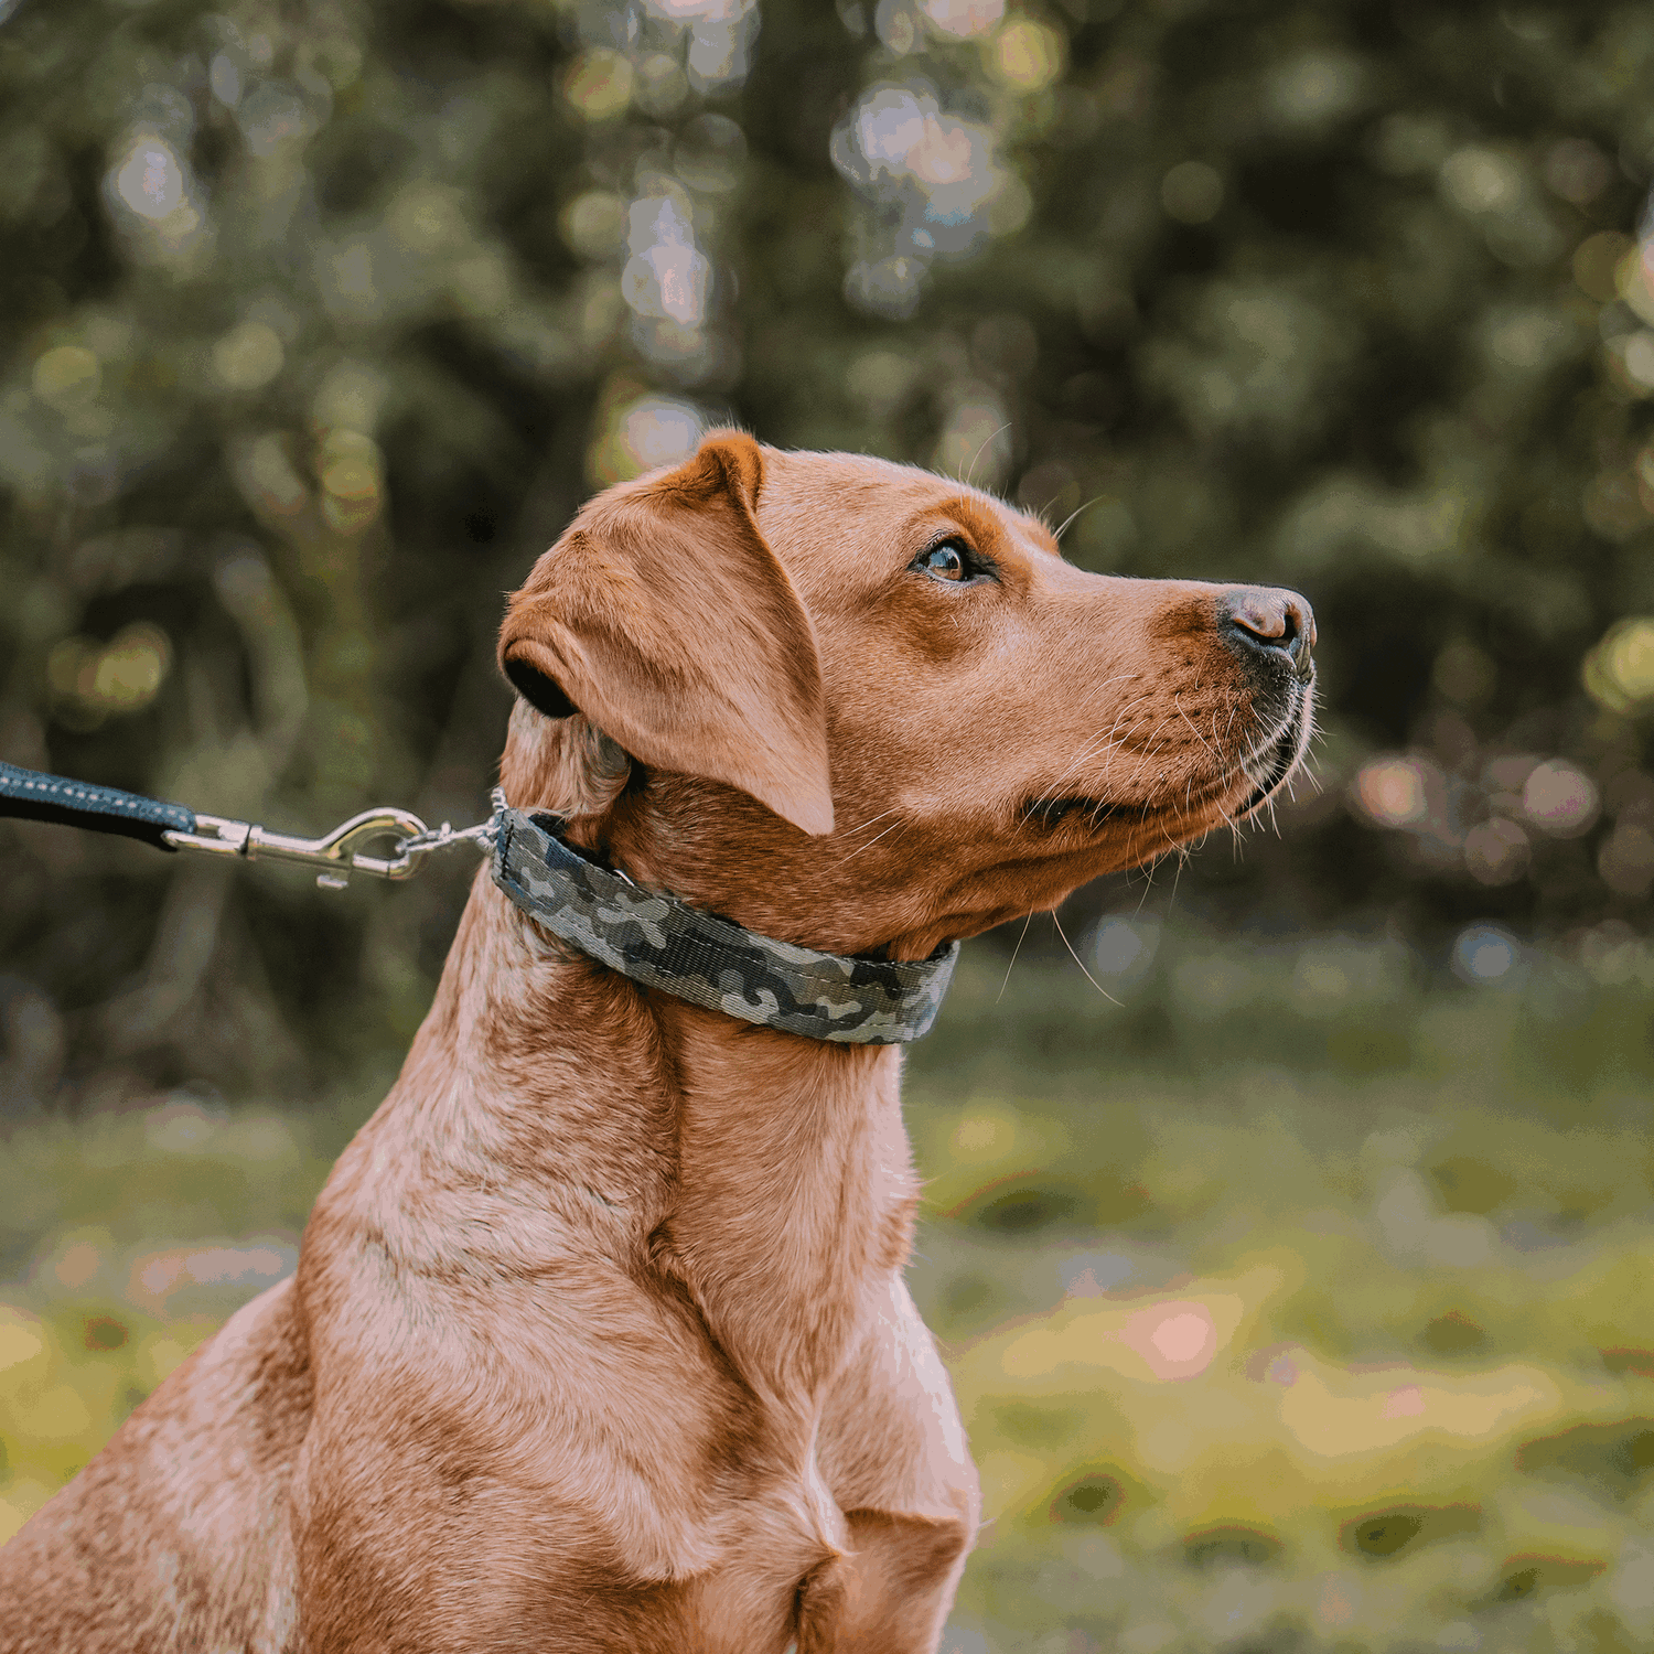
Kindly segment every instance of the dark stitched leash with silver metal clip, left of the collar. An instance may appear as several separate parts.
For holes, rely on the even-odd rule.
[[[495,807],[503,807],[503,802],[496,797]],[[486,850],[493,842],[491,819],[457,832],[447,822],[430,829],[417,815],[399,809],[364,810],[321,839],[296,839],[258,822],[200,815],[184,804],[164,804],[119,787],[94,787],[17,764],[0,764],[0,815],[121,834],[157,850],[237,855],[245,862],[260,857],[301,862],[321,868],[316,883],[324,890],[342,890],[351,873],[407,878],[418,872],[432,850],[461,842]],[[362,855],[362,847],[375,839],[395,839],[392,853]]]

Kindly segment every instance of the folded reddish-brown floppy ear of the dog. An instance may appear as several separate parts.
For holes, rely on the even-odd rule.
[[[758,443],[713,432],[600,495],[534,566],[500,665],[547,718],[582,713],[645,764],[739,787],[832,832],[815,633],[753,508]]]

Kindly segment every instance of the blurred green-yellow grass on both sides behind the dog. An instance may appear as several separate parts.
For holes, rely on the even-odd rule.
[[[989,1513],[944,1646],[1654,1649],[1654,956],[1140,951],[1111,1004],[968,949],[911,1054]],[[291,1269],[369,1107],[10,1133],[0,1533]]]

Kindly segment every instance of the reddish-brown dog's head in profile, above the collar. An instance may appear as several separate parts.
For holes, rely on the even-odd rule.
[[[963,483],[716,432],[511,599],[501,777],[698,906],[921,958],[1260,809],[1313,642],[1292,592],[1087,574]]]

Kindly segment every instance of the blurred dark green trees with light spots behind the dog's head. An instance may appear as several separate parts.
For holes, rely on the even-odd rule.
[[[1320,791],[1188,911],[1601,948],[1654,888],[1651,71],[1580,0],[0,0],[0,756],[475,819],[500,594],[733,417],[1308,592]],[[0,829],[10,1092],[394,1059],[466,872]]]

